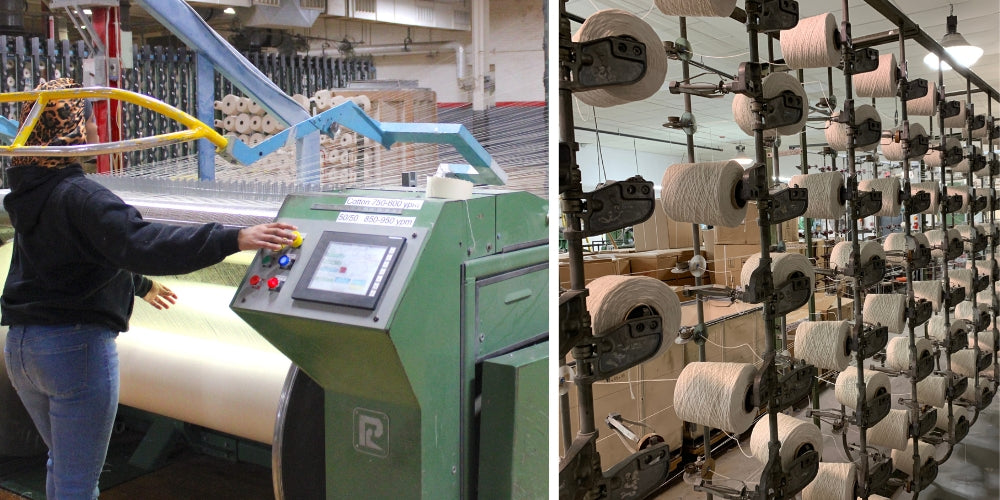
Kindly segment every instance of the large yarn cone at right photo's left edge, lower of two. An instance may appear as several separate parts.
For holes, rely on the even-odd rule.
[[[639,306],[648,306],[663,320],[663,343],[657,355],[674,343],[680,328],[681,304],[666,283],[648,276],[602,276],[587,288],[587,309],[595,336],[608,333]]]

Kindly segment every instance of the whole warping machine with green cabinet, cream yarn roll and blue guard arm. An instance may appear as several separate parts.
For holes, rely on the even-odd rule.
[[[124,91],[72,92],[143,104]],[[205,137],[250,162],[274,147],[218,137],[168,108],[194,130],[77,153]],[[502,170],[463,127],[379,123],[352,103],[277,140],[333,135],[337,124],[386,146],[452,144],[471,165],[441,171],[502,184]],[[23,144],[15,138],[0,151],[64,153]],[[496,188],[432,198],[417,188],[94,179],[150,220],[277,219],[300,232],[279,252],[165,278],[181,301],[169,311],[137,305],[119,337],[121,401],[153,416],[130,467],[154,467],[186,437],[227,458],[262,462],[270,453],[277,498],[545,495],[545,200]]]

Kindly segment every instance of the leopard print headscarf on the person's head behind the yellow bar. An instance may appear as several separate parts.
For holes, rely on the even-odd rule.
[[[35,90],[54,90],[79,88],[80,84],[72,78],[58,78],[42,83]],[[34,101],[25,102],[21,106],[21,123],[28,117]],[[86,120],[83,116],[83,99],[58,99],[49,101],[42,115],[31,131],[26,145],[28,146],[71,146],[86,144]],[[63,168],[76,163],[74,157],[62,156],[15,156],[11,158],[11,166],[33,165],[43,168]]]

